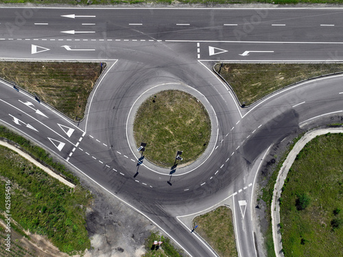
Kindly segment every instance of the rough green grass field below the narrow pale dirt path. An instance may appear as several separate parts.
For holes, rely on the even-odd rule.
[[[47,236],[62,252],[82,253],[91,247],[85,227],[91,194],[81,186],[65,186],[6,147],[0,153],[0,199],[5,199],[5,181],[10,180],[12,219]],[[5,201],[0,201],[0,210],[6,210]]]

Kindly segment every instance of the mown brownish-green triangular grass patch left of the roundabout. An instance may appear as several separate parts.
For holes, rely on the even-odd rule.
[[[94,62],[0,62],[0,77],[78,121],[100,72]]]

